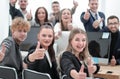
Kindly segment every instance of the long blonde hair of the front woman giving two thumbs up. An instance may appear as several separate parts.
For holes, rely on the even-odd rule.
[[[82,53],[79,54],[79,57],[80,57],[81,59],[83,59],[83,60],[87,60],[87,57],[90,56],[89,51],[88,51],[88,38],[87,38],[86,32],[83,31],[83,30],[80,29],[80,28],[74,28],[73,30],[71,30],[70,35],[69,35],[69,39],[68,39],[68,46],[67,46],[67,49],[66,49],[66,50],[69,51],[69,52],[72,52],[72,51],[73,51],[73,47],[72,47],[72,45],[71,45],[71,41],[72,41],[72,39],[74,38],[74,36],[75,36],[76,34],[78,34],[78,33],[84,34],[84,35],[86,36],[86,42],[87,42],[87,43],[86,43],[86,47],[84,48],[84,50],[82,51]]]

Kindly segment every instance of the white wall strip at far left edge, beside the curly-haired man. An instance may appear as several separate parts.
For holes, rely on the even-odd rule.
[[[9,0],[0,0],[0,43],[8,36]]]

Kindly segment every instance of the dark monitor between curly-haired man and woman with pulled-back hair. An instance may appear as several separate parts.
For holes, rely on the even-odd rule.
[[[28,51],[29,48],[37,43],[37,34],[40,30],[38,26],[32,26],[30,31],[28,32],[27,38],[20,45],[21,51]]]

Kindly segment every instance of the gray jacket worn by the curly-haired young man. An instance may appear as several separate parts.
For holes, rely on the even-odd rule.
[[[4,39],[2,43],[5,44],[6,53],[0,65],[15,68],[18,73],[18,76],[20,76],[23,67],[22,67],[22,56],[19,50],[19,45],[15,42],[15,40],[12,37],[8,37]]]

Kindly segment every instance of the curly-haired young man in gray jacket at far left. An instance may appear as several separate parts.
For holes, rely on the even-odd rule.
[[[18,79],[22,79],[23,62],[19,46],[27,37],[30,30],[28,21],[21,17],[13,19],[10,27],[12,36],[5,38],[0,45],[1,66],[13,67],[16,69]]]

